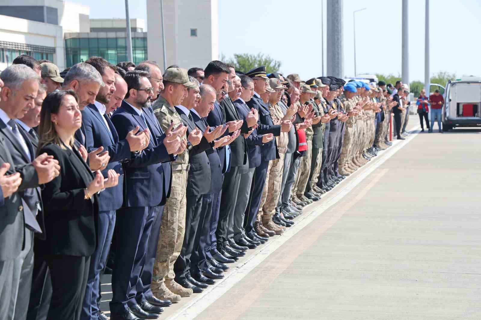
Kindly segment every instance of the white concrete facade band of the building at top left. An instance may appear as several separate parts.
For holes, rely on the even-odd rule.
[[[60,70],[65,68],[63,33],[62,27],[59,25],[0,15],[0,39],[9,42],[54,47],[53,63],[57,64]],[[0,63],[0,70],[6,67],[6,63]]]

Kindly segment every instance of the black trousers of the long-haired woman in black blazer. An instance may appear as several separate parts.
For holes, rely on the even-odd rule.
[[[47,320],[80,319],[89,277],[90,257],[47,255],[52,298]]]

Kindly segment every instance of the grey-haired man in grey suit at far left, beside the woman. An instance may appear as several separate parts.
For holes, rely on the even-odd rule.
[[[50,182],[60,172],[57,160],[36,152],[25,131],[15,119],[34,107],[39,76],[23,64],[12,65],[0,74],[5,86],[0,92],[0,138],[10,153],[10,170],[20,173],[18,197],[6,208],[1,223],[0,243],[0,314],[7,319],[25,319],[33,272],[34,233],[44,230],[39,185]],[[5,152],[5,155],[8,155]],[[10,173],[10,172],[9,172]],[[14,205],[13,205],[14,204]],[[12,291],[9,291],[9,289]],[[3,296],[3,293],[6,296]],[[20,298],[18,298],[20,297]],[[17,315],[15,315],[17,313]]]

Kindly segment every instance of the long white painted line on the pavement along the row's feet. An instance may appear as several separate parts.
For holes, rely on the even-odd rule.
[[[304,214],[296,220],[296,223],[286,230],[281,236],[275,237],[269,240],[262,249],[254,253],[250,258],[244,261],[242,264],[233,268],[224,279],[217,280],[215,285],[209,286],[204,289],[202,294],[197,295],[197,298],[190,301],[183,308],[178,310],[175,314],[167,318],[167,320],[190,320],[197,317],[203,310],[209,307],[215,302],[221,295],[225,294],[234,284],[242,280],[250,271],[264,261],[271,253],[276,251],[278,247],[282,246],[292,236],[301,231],[306,225],[311,223],[324,211],[329,209],[332,205],[336,204],[339,200],[345,197],[351,190],[361,183],[371,172],[376,170],[381,164],[392,157],[398,150],[403,148],[419,133],[417,127],[411,131],[405,140],[393,140],[391,148],[382,150],[378,156],[369,161],[360,172],[356,172],[353,176],[350,176],[342,181],[338,188],[334,188],[330,193],[337,191],[333,197],[327,201],[321,201],[320,203],[314,202],[304,208]],[[338,190],[337,190],[338,189]],[[309,211],[307,211],[309,210]]]

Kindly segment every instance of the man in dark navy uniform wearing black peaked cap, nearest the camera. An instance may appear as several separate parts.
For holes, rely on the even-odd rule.
[[[257,134],[264,135],[272,133],[274,136],[279,136],[281,131],[288,132],[291,130],[292,123],[290,121],[282,121],[280,124],[275,125],[272,122],[272,118],[270,116],[269,108],[267,104],[262,100],[260,94],[266,92],[266,84],[267,84],[267,74],[266,74],[266,67],[261,66],[255,69],[248,71],[245,75],[251,77],[254,83],[254,95],[249,102],[247,102],[247,106],[250,108],[254,108],[259,112],[259,121],[257,127]],[[261,163],[255,169],[254,173],[254,183],[253,188],[251,191],[250,196],[250,206],[248,208],[249,214],[247,216],[247,223],[245,226],[245,231],[248,237],[252,240],[258,240],[258,234],[256,236],[256,232],[254,230],[254,222],[257,218],[257,213],[259,211],[259,206],[261,203],[262,193],[264,191],[264,185],[266,183],[266,174],[267,174],[267,167],[269,165],[270,160],[278,159],[279,154],[277,150],[276,140],[273,139],[272,141],[264,144],[261,148]],[[259,222],[257,222],[259,224]]]

